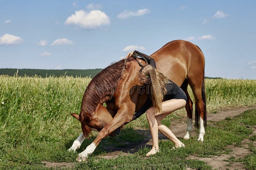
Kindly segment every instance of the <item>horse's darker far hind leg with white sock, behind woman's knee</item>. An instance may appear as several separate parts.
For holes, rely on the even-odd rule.
[[[182,83],[180,88],[185,92],[187,96],[187,103],[186,103],[186,111],[187,111],[187,133],[183,137],[183,139],[189,139],[189,134],[193,131],[193,126],[192,126],[192,113],[193,113],[193,102],[188,94],[188,81],[185,79],[185,81]]]

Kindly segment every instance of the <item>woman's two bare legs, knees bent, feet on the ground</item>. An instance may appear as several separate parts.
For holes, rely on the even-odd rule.
[[[162,102],[162,112],[155,113],[155,108],[151,107],[147,110],[147,119],[150,127],[150,132],[153,140],[152,149],[147,153],[146,156],[156,154],[159,150],[158,146],[158,131],[164,134],[167,138],[171,139],[175,145],[181,145],[181,142],[172,131],[164,126],[161,121],[164,117],[171,114],[173,111],[183,108],[186,105],[184,99],[171,99]]]

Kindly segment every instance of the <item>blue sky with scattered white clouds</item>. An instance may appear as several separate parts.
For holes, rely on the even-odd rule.
[[[0,0],[0,68],[105,68],[188,40],[205,76],[256,79],[256,1]]]

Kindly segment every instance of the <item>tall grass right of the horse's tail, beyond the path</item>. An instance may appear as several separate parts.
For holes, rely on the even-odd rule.
[[[210,111],[256,104],[256,80],[206,79],[205,84]]]

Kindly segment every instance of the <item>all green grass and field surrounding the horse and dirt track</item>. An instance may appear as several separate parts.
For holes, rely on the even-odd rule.
[[[84,91],[91,78],[49,76],[47,78],[0,76],[0,169],[47,169],[42,161],[76,162],[76,156],[89,145],[94,137],[86,139],[76,153],[68,152],[73,141],[81,133],[80,123],[70,116],[79,113]],[[220,109],[256,105],[256,80],[205,79],[207,112]],[[194,101],[191,89],[191,99]],[[185,109],[178,110],[164,119],[170,126],[174,120],[186,120]],[[105,146],[125,146],[125,142],[140,142],[143,136],[136,129],[148,129],[145,114],[121,130],[117,137],[102,140],[86,162],[74,165],[74,169],[212,169],[204,161],[187,159],[189,155],[209,157],[228,154],[227,145],[240,145],[244,138],[255,141],[251,127],[256,125],[256,110],[208,125],[205,140],[196,137],[181,141],[186,145],[170,150],[170,141],[160,142],[161,152],[145,159],[150,148],[113,159],[99,159],[106,154]],[[249,127],[249,128],[248,128]],[[198,130],[195,130],[198,131]],[[220,142],[221,141],[221,142]],[[240,160],[246,169],[256,169],[255,145],[249,145],[252,154]],[[98,159],[98,161],[95,161]],[[230,160],[231,161],[231,160]],[[227,162],[228,164],[228,162]],[[135,166],[136,165],[136,166]],[[57,167],[58,168],[58,167]],[[227,166],[228,168],[228,166]],[[68,169],[68,168],[67,168]],[[72,168],[70,168],[72,169]]]

